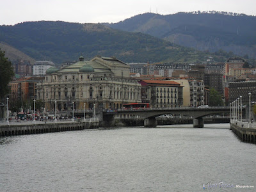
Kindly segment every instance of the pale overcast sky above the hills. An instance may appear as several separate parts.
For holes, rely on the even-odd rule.
[[[24,21],[118,22],[141,13],[223,11],[256,15],[256,0],[1,0],[0,25]]]

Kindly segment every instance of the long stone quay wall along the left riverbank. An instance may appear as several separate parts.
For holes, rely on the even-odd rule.
[[[0,124],[0,136],[17,136],[22,134],[40,134],[47,132],[77,131],[83,129],[99,128],[99,120],[77,119],[65,121],[29,121],[4,122]]]

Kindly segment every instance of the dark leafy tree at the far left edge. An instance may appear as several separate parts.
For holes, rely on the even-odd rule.
[[[4,56],[5,53],[0,49],[0,99],[8,93],[8,83],[14,76],[12,63]]]

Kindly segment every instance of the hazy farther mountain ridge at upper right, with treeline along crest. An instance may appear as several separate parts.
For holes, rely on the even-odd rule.
[[[222,49],[256,58],[255,16],[214,11],[173,15],[144,13],[106,26],[146,33],[200,51]]]

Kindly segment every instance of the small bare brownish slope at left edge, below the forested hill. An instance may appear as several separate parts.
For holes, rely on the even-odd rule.
[[[5,51],[5,57],[8,58],[8,60],[23,60],[23,61],[30,61],[32,65],[34,65],[35,60],[28,55],[24,54],[24,52],[21,52],[14,47],[5,44],[4,42],[0,42],[0,49],[1,51]]]

